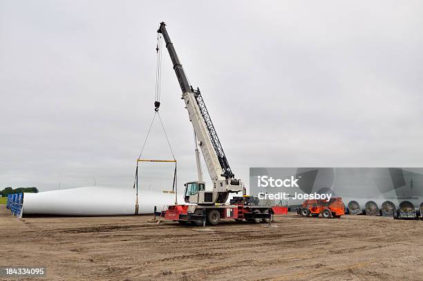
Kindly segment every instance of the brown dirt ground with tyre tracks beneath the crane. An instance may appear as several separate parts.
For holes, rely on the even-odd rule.
[[[290,214],[271,226],[203,228],[151,219],[19,220],[0,206],[0,266],[45,266],[32,280],[423,280],[423,221]]]

